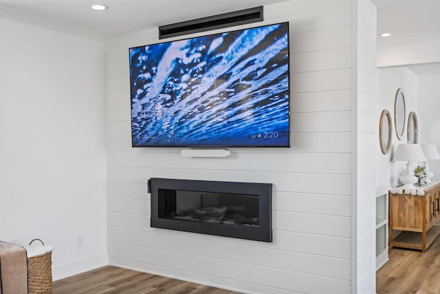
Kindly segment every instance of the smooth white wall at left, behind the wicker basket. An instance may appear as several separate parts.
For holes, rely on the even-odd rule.
[[[0,240],[52,244],[55,280],[106,264],[106,46],[3,18],[0,36]]]

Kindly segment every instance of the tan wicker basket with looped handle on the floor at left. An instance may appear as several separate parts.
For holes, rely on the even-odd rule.
[[[35,240],[29,243],[29,246]],[[52,294],[52,251],[28,258],[28,288],[30,294]]]

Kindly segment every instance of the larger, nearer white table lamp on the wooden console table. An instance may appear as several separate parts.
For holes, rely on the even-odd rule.
[[[401,174],[399,180],[404,184],[403,189],[415,189],[417,177],[414,175],[414,168],[417,161],[426,161],[426,158],[419,144],[397,145],[393,161],[407,161],[406,170]]]

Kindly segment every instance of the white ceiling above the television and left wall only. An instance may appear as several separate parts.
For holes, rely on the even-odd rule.
[[[0,13],[69,25],[101,36],[117,36],[286,0],[0,0]],[[100,3],[108,10],[91,10]],[[8,17],[6,15],[6,17]],[[38,19],[36,19],[38,18]]]

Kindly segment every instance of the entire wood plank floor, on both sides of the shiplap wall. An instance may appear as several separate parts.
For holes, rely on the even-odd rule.
[[[389,258],[377,271],[377,294],[440,294],[440,238],[426,253],[393,249]],[[104,266],[54,282],[54,294],[63,293],[239,294],[115,266]]]

